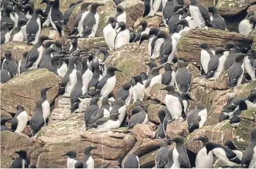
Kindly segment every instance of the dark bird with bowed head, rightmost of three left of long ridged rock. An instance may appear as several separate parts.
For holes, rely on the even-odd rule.
[[[172,37],[165,31],[165,30],[160,30],[158,32],[158,36],[156,39],[163,38],[163,44],[161,44],[160,47],[160,64],[166,63],[168,60],[170,54],[173,51],[173,46],[172,46]]]

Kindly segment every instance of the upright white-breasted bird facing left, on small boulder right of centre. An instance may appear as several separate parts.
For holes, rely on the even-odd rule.
[[[163,89],[168,91],[165,96],[165,103],[168,111],[172,115],[172,120],[184,120],[185,119],[185,111],[184,111],[184,104],[180,99],[180,96],[175,92],[173,85],[168,85]]]

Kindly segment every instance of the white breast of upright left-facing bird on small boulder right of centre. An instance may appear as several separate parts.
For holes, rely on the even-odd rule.
[[[172,115],[173,120],[178,120],[182,113],[182,106],[178,97],[172,96],[171,94],[166,94],[165,103]]]

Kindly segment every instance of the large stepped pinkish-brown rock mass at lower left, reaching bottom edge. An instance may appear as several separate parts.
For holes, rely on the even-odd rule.
[[[78,157],[83,157],[84,147],[96,146],[91,152],[95,160],[95,168],[111,163],[119,165],[135,144],[135,137],[127,128],[116,131],[95,132],[84,128],[83,113],[70,113],[69,98],[58,97],[55,109],[51,113],[48,126],[41,128],[32,151],[31,161],[38,168],[66,168],[67,158],[60,155],[73,149]],[[88,104],[88,103],[86,103]],[[49,159],[51,156],[51,159]]]

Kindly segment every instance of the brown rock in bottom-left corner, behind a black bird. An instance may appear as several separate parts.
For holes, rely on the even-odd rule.
[[[32,150],[33,141],[25,134],[19,134],[16,132],[3,131],[1,132],[1,167],[2,160],[5,165],[10,165],[12,161],[10,158],[15,158],[18,154],[15,151],[25,150],[30,156]]]

